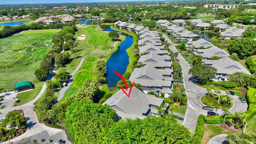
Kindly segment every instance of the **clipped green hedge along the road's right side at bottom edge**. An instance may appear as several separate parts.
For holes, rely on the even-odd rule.
[[[192,136],[191,144],[201,144],[204,135],[204,117],[202,114],[197,119],[196,130]]]

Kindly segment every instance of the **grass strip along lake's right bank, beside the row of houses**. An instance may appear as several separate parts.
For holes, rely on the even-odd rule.
[[[132,64],[133,64],[134,61],[136,61],[136,56],[134,56],[133,50],[135,49],[135,46],[138,45],[138,36],[134,32],[128,32],[126,30],[120,30],[120,29],[115,28],[113,26],[110,26],[110,28],[112,28],[113,30],[119,31],[119,32],[123,32],[125,34],[129,34],[130,36],[133,37],[132,46],[126,50],[128,56],[129,56],[129,64],[127,66],[126,72],[132,73],[132,71],[133,71]]]

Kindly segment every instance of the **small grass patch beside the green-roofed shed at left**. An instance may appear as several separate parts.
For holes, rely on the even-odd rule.
[[[17,98],[20,100],[20,102],[19,103],[15,102],[14,103],[15,106],[20,106],[22,104],[26,104],[26,103],[30,102],[31,100],[33,100],[41,91],[41,89],[44,85],[44,82],[38,82],[34,85],[35,85],[34,90],[30,90],[27,92],[22,92],[22,93],[17,94]]]

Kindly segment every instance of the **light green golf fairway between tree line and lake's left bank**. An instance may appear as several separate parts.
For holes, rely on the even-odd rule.
[[[78,49],[80,50],[77,55],[80,58],[73,59],[70,64],[66,65],[66,69],[70,73],[76,68],[76,66],[78,66],[82,56],[86,56],[88,54],[93,54],[100,51],[109,50],[115,43],[108,36],[108,32],[102,31],[98,26],[95,26],[95,25],[88,25],[88,27],[86,28],[78,28],[78,31],[76,32],[74,37],[76,38],[77,36],[81,36],[82,34],[86,35],[86,39],[77,40],[77,42],[79,42]],[[74,74],[74,82],[68,88],[63,98],[59,102],[62,102],[67,97],[75,94],[87,79],[96,80],[95,73],[97,71],[96,70],[97,62],[99,60],[104,60],[106,62],[108,58],[111,56],[111,54],[117,50],[121,42],[125,40],[125,37],[122,36],[120,40],[121,41],[116,44],[113,50],[104,52],[104,56],[102,58],[100,58],[99,54],[95,54],[95,55],[86,57],[84,59],[82,66],[78,69],[76,74]],[[101,95],[109,93],[109,90],[106,84],[103,86],[103,88],[100,87],[100,89],[104,91],[100,93]],[[113,92],[116,92],[116,90]]]

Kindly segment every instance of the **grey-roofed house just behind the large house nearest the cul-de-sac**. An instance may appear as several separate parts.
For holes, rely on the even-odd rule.
[[[197,49],[194,52],[194,54],[202,56],[203,60],[210,60],[212,56],[218,56],[218,57],[230,56],[228,52],[218,48],[217,46],[212,46],[211,48],[207,48],[207,49]]]

